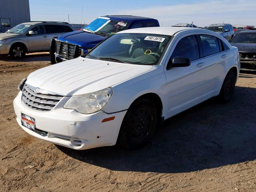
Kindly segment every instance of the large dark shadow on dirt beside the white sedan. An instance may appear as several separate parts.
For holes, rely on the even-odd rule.
[[[117,171],[179,173],[255,160],[255,101],[255,88],[236,86],[227,104],[212,98],[164,121],[153,141],[139,150],[58,148],[81,162]]]

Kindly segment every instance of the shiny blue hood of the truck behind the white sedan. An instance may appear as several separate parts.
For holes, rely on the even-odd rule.
[[[74,31],[65,33],[58,37],[58,40],[79,45],[80,47],[93,48],[107,37],[96,35],[90,32]]]

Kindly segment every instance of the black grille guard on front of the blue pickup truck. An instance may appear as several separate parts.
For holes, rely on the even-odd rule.
[[[64,56],[65,58],[74,59],[76,58],[76,48],[77,46],[74,44],[56,41],[56,53],[58,55]]]

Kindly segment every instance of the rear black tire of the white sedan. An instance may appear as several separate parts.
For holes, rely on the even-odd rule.
[[[236,76],[233,71],[229,71],[222,84],[220,94],[218,95],[220,102],[227,103],[232,99],[235,89],[235,83]]]

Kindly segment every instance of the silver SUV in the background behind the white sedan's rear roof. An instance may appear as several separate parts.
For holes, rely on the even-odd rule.
[[[208,30],[214,31],[221,36],[223,36],[226,40],[230,40],[234,37],[234,28],[231,24],[212,24],[207,26]]]

